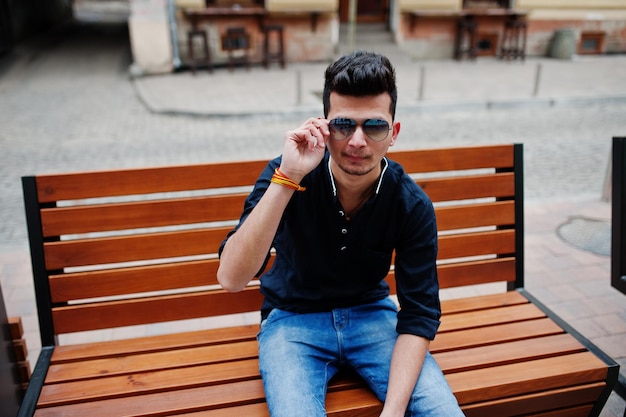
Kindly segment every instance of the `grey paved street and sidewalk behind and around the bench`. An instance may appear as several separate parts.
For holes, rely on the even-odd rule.
[[[590,248],[563,233],[574,220],[610,221],[602,196],[611,137],[626,134],[626,56],[415,62],[368,48],[397,67],[398,149],[524,143],[527,287],[626,366],[626,296],[609,285],[610,258],[593,251],[607,235],[583,227],[578,240],[600,240]],[[49,34],[0,57],[0,282],[31,361],[40,343],[20,176],[270,158],[283,132],[321,113],[326,63],[138,79],[130,63],[115,26]],[[602,416],[624,407],[612,395]]]

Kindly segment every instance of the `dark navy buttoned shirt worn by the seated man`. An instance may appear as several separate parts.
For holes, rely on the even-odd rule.
[[[372,196],[348,220],[329,161],[326,153],[303,178],[306,190],[295,192],[285,210],[273,242],[276,259],[261,276],[263,317],[273,308],[330,311],[387,297],[384,279],[395,250],[397,331],[432,340],[441,310],[437,226],[430,199],[402,166],[385,158]],[[278,166],[280,157],[270,161],[257,180],[239,225],[261,199]]]

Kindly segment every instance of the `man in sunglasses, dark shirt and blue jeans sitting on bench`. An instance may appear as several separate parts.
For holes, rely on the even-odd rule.
[[[276,249],[260,278],[270,413],[324,416],[328,381],[350,367],[381,416],[462,416],[428,352],[441,315],[432,203],[385,158],[400,132],[394,69],[355,52],[325,77],[325,117],[287,132],[220,254],[220,284],[240,291]],[[399,312],[384,282],[394,250]]]

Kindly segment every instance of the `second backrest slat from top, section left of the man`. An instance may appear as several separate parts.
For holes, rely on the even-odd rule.
[[[236,220],[247,194],[56,207],[41,211],[44,236]]]

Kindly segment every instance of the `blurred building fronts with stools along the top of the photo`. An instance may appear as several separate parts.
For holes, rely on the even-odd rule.
[[[260,63],[266,40],[286,62],[329,61],[340,41],[363,45],[363,36],[415,60],[468,48],[498,56],[512,21],[523,26],[514,40],[524,56],[626,52],[626,0],[0,0],[0,49],[71,19],[127,20],[144,73],[226,64],[234,54]]]

